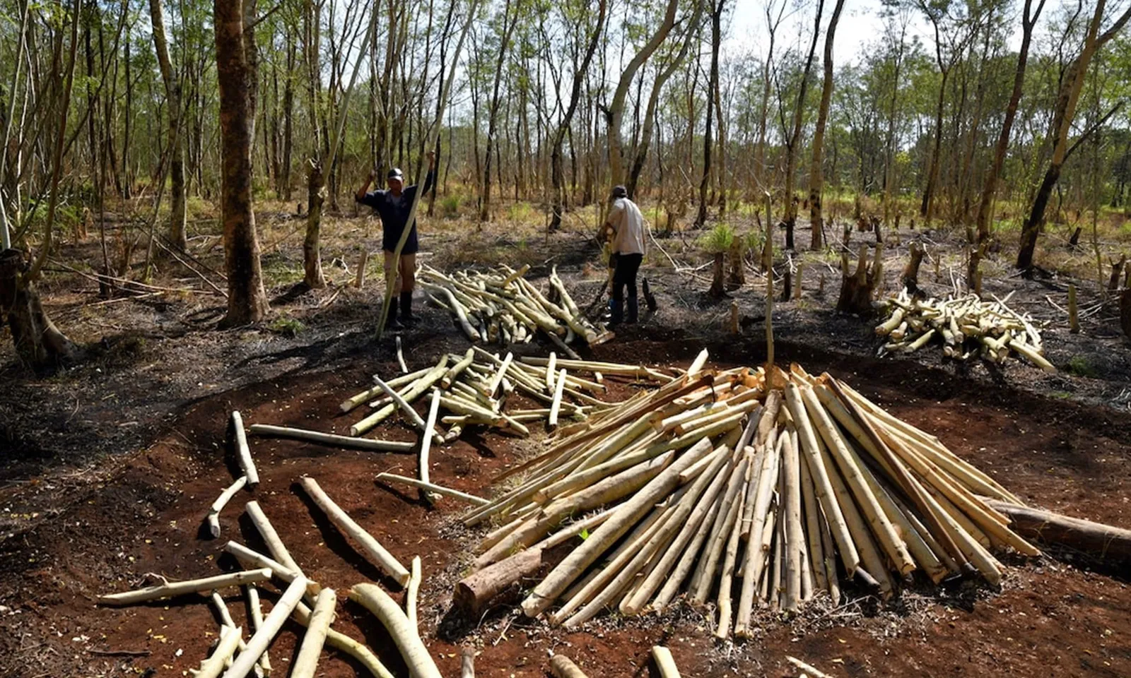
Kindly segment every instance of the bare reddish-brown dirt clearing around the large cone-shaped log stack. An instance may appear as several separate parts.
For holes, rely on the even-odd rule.
[[[601,347],[601,359],[687,362],[699,344],[631,337]],[[713,346],[719,363],[765,359],[757,342]],[[779,346],[778,359],[845,377],[892,414],[939,435],[1015,494],[1071,515],[1131,524],[1131,416],[964,382],[942,371]],[[291,441],[251,438],[261,476],[254,493],[233,499],[219,540],[202,539],[208,504],[232,478],[223,444],[228,411],[244,420],[344,433],[360,418],[336,416],[344,398],[391,366],[359,358],[348,372],[275,380],[197,402],[173,433],[131,455],[112,475],[78,477],[68,506],[0,553],[0,676],[181,676],[207,654],[217,621],[207,600],[179,599],[122,609],[96,607],[98,593],[138,585],[145,573],[170,579],[216,574],[226,539],[262,548],[242,503],[257,498],[308,575],[344,598],[349,585],[378,581],[295,481],[311,475],[398,559],[420,555],[421,623],[440,670],[458,673],[459,649],[474,644],[481,677],[546,676],[551,652],[575,659],[590,677],[654,675],[653,644],[667,644],[684,676],[794,676],[785,655],[832,676],[1131,676],[1131,591],[1126,573],[1102,573],[1059,559],[1011,562],[1000,592],[975,583],[938,592],[908,591],[893,605],[863,599],[827,614],[771,621],[745,643],[718,643],[705,615],[682,610],[663,619],[599,618],[564,634],[499,608],[480,624],[451,611],[452,583],[475,534],[454,518],[463,506],[443,499],[428,508],[415,493],[374,484],[380,471],[414,471],[413,455],[342,451]],[[379,437],[412,440],[399,424]],[[537,443],[497,434],[461,440],[433,452],[434,481],[484,494],[491,477]],[[26,488],[24,488],[26,492]],[[18,496],[0,501],[18,512]],[[18,544],[10,544],[18,541]],[[1069,559],[1072,558],[1072,559]],[[221,566],[231,566],[221,558]],[[270,586],[266,588],[271,590]],[[235,590],[230,609],[247,624]],[[399,598],[399,593],[396,594]],[[273,593],[268,598],[274,598]],[[335,628],[365,640],[398,676],[407,675],[381,626],[352,602],[338,607]],[[271,647],[276,675],[293,660],[297,627]],[[300,631],[301,633],[301,631]],[[148,651],[106,657],[100,651]],[[152,672],[150,669],[155,671]],[[323,654],[326,677],[361,669]]]

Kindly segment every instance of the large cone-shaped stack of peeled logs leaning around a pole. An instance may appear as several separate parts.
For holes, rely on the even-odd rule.
[[[572,628],[606,608],[662,611],[682,591],[716,603],[717,636],[746,636],[756,605],[836,603],[844,580],[887,598],[916,571],[998,584],[991,549],[1039,553],[987,504],[1013,495],[847,384],[701,365],[590,418],[466,514],[499,527],[457,602],[482,610],[533,576],[524,612],[556,606],[551,623]]]

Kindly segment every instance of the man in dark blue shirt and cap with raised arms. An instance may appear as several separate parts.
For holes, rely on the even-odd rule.
[[[424,179],[424,193],[432,189],[435,180],[435,153],[428,154],[428,176]],[[416,198],[418,186],[405,185],[405,175],[398,168],[389,169],[386,176],[388,190],[370,191],[369,186],[377,179],[377,172],[370,172],[365,185],[357,190],[354,200],[368,205],[381,217],[381,249],[385,251],[385,279],[396,275],[392,285],[392,299],[389,302],[388,324],[392,330],[403,329],[404,325],[412,325],[413,318],[413,288],[416,285],[416,251],[420,249],[420,240],[416,235],[416,221],[408,225],[408,212],[412,210],[413,200]],[[405,247],[400,251],[400,266],[396,273],[392,270],[392,254],[400,242],[400,236],[405,228],[412,228]],[[400,297],[400,320],[397,320],[397,296]]]

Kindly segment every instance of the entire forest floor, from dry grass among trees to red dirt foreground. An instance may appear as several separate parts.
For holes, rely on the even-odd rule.
[[[774,308],[778,360],[847,376],[892,414],[935,433],[1035,504],[1131,525],[1131,349],[1120,333],[1117,306],[1104,293],[1108,260],[1131,250],[1126,216],[1105,212],[1095,231],[1090,215],[1067,215],[1064,223],[1051,224],[1036,258],[1043,270],[1028,280],[1011,267],[1017,210],[1001,210],[1000,249],[983,263],[983,292],[999,297],[1012,293],[1011,307],[1046,323],[1045,355],[1057,373],[1045,374],[1017,359],[1004,365],[948,360],[938,348],[878,358],[882,340],[874,321],[834,312],[845,245],[841,223],[851,218],[853,206],[847,199],[829,202],[836,221],[827,228],[831,242],[826,250],[808,251],[804,210],[798,253],[783,253],[782,231],[775,229],[778,261],[803,262],[801,297]],[[107,255],[128,260],[131,279],[147,286],[131,285],[130,293],[110,298],[100,297],[93,277],[103,258],[98,224],[90,217],[85,237],[77,237],[83,217],[76,215],[41,286],[52,319],[84,347],[76,365],[33,375],[17,363],[7,330],[0,337],[6,385],[0,393],[0,626],[8,632],[0,634],[0,676],[124,676],[147,668],[181,675],[196,667],[209,642],[200,629],[215,625],[205,601],[178,607],[174,616],[162,605],[94,608],[93,597],[136,583],[146,572],[171,577],[215,573],[217,544],[201,540],[197,529],[207,504],[230,479],[223,441],[231,409],[244,411],[249,421],[340,433],[348,421],[334,418],[337,402],[368,388],[374,372],[394,370],[391,340],[374,337],[383,290],[374,217],[356,211],[347,199],[331,210],[322,228],[329,285],[309,290],[296,287],[305,216],[296,214],[294,201],[258,203],[270,318],[260,325],[218,331],[224,280],[217,215],[201,201],[190,207],[189,257],[179,262],[154,251],[144,280],[144,210],[107,207]],[[640,275],[648,278],[659,306],[641,324],[619,329],[615,340],[593,354],[685,363],[709,346],[722,364],[763,360],[766,280],[757,254],[746,257],[745,285],[723,299],[710,298],[711,258],[702,237],[714,221],[694,231],[687,224],[693,215],[685,215],[671,234],[658,237],[665,214],[647,200],[641,207],[656,228]],[[594,238],[599,219],[594,207],[570,212],[564,227],[550,235],[536,205],[504,200],[487,224],[472,218],[473,211],[467,201],[438,201],[434,216],[421,219],[420,262],[441,270],[526,263],[535,284],[556,267],[582,308],[602,289],[605,270]],[[737,234],[757,237],[757,214],[754,206],[739,203],[724,220]],[[914,238],[927,250],[921,287],[938,297],[965,294],[965,233],[939,224],[913,228],[906,218],[901,224],[883,234],[879,296],[897,290]],[[1069,238],[1077,226],[1082,235],[1072,249]],[[848,249],[855,257],[861,244],[872,243],[871,233],[853,229]],[[365,285],[357,289],[351,282],[365,251],[374,255]],[[1079,289],[1082,325],[1074,334],[1064,312],[1070,282]],[[775,289],[780,285],[779,279]],[[728,333],[732,301],[739,304],[743,330],[737,338]],[[466,340],[446,311],[420,297],[417,308],[421,324],[404,334],[409,366],[464,350]],[[411,437],[397,425],[378,433]],[[433,479],[485,494],[491,476],[527,450],[495,434],[461,441],[444,450]],[[413,460],[353,452],[311,457],[285,443],[257,444],[254,452],[266,469],[261,503],[268,513],[294,512],[287,513],[297,520],[286,521],[284,540],[326,581],[344,589],[359,568],[364,576],[375,575],[356,556],[351,559],[349,547],[333,536],[333,528],[311,524],[290,490],[303,472],[333,481],[345,503],[364,507],[364,518],[383,525],[373,528],[374,533],[380,531],[382,542],[391,544],[404,562],[415,553],[424,557],[422,625],[446,675],[458,670],[459,646],[474,644],[482,652],[482,676],[545,676],[549,651],[564,647],[589,662],[592,676],[642,676],[650,670],[645,668],[648,647],[661,641],[689,676],[786,675],[785,654],[851,676],[991,670],[1131,675],[1126,573],[1097,571],[1071,554],[1015,563],[1000,592],[967,582],[941,592],[909,590],[895,605],[864,596],[788,623],[767,611],[760,636],[737,645],[716,643],[709,616],[690,609],[662,619],[606,616],[572,634],[516,617],[510,608],[482,620],[461,619],[451,612],[451,584],[465,563],[459,554],[473,536],[452,527],[459,507],[428,510],[414,497],[372,483],[375,472],[411,467]],[[353,615],[354,608],[346,610],[343,626],[377,649],[389,647],[379,625]],[[273,649],[284,673],[294,631],[288,627]],[[106,650],[137,655],[100,653]],[[359,670],[339,659],[325,662],[326,676]]]

